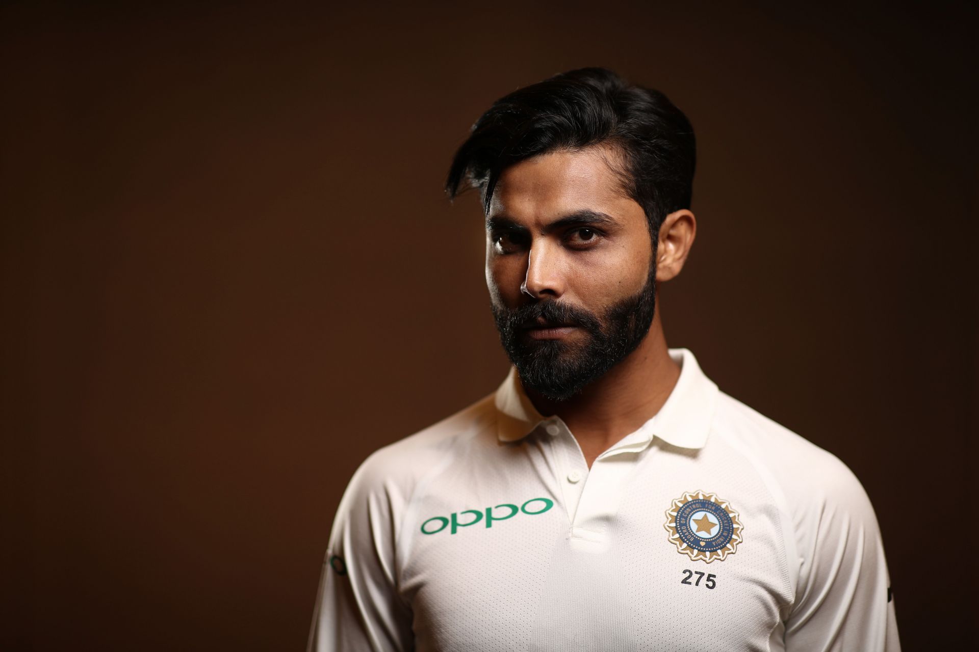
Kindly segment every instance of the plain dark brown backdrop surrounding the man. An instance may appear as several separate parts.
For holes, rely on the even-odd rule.
[[[506,370],[449,157],[581,65],[697,130],[670,345],[856,471],[905,649],[965,643],[965,3],[77,4],[0,10],[0,647],[303,648],[353,469]]]

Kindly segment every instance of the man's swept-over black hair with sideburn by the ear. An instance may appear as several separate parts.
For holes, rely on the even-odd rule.
[[[452,159],[445,193],[478,188],[484,212],[508,166],[597,145],[621,155],[621,165],[610,165],[645,211],[654,246],[666,215],[690,206],[696,164],[690,121],[663,93],[630,85],[612,70],[578,68],[518,89],[494,102],[470,132]]]

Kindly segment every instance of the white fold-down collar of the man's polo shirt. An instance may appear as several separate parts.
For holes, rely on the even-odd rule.
[[[609,453],[640,451],[654,437],[683,449],[700,449],[707,443],[720,390],[713,380],[704,375],[697,359],[688,349],[668,351],[680,366],[676,386],[660,411],[638,430],[620,440]],[[531,434],[541,422],[561,421],[560,416],[543,416],[537,412],[524,391],[517,368],[512,365],[496,389],[494,398],[496,434],[500,441],[515,442]]]

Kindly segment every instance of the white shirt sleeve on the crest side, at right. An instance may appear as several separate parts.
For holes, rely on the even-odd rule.
[[[843,462],[794,520],[801,566],[788,652],[900,652],[884,546],[870,500]]]

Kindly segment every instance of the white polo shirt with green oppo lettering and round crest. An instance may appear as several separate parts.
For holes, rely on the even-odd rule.
[[[666,404],[590,469],[512,367],[369,456],[308,649],[899,650],[857,478],[670,355]]]

